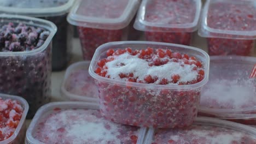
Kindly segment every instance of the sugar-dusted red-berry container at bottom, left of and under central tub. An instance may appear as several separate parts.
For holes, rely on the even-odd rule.
[[[42,106],[27,129],[28,143],[142,143],[146,128],[107,121],[98,105],[56,102]]]

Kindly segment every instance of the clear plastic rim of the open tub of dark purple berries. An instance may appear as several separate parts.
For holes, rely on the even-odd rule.
[[[2,19],[2,20],[1,20]],[[3,22],[4,20],[10,20],[11,22],[14,23],[19,23],[19,20],[22,20],[21,22],[26,22],[26,24],[31,25],[31,26],[36,26],[36,27],[43,27],[47,29],[50,34],[48,38],[44,41],[44,44],[38,49],[31,50],[31,51],[19,51],[19,52],[0,52],[0,56],[30,56],[30,55],[35,55],[36,53],[44,51],[49,44],[51,43],[55,33],[57,32],[57,27],[53,22],[43,20],[43,19],[38,19],[35,17],[28,17],[28,16],[20,16],[20,15],[9,15],[9,14],[0,14],[0,20]],[[39,24],[38,22],[42,22],[43,24]]]

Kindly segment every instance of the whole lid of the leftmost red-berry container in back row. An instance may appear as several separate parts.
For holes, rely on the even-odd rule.
[[[67,20],[75,26],[123,29],[136,14],[137,0],[78,0]]]

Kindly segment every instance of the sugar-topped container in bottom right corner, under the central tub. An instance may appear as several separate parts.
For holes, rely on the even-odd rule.
[[[215,118],[197,117],[188,128],[149,129],[145,144],[160,143],[256,143],[256,129]]]

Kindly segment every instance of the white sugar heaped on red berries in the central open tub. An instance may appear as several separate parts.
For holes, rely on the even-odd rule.
[[[121,63],[121,65],[120,65]],[[138,77],[138,80],[144,80],[146,75],[157,76],[158,83],[162,78],[166,78],[171,81],[172,74],[179,74],[180,82],[192,81],[197,78],[197,71],[193,70],[195,65],[185,64],[182,67],[182,63],[168,62],[160,66],[150,67],[149,62],[145,59],[138,58],[138,56],[131,56],[129,53],[124,53],[120,56],[115,56],[114,61],[106,63],[107,75],[111,79],[120,80],[119,74],[133,73],[133,77]]]

